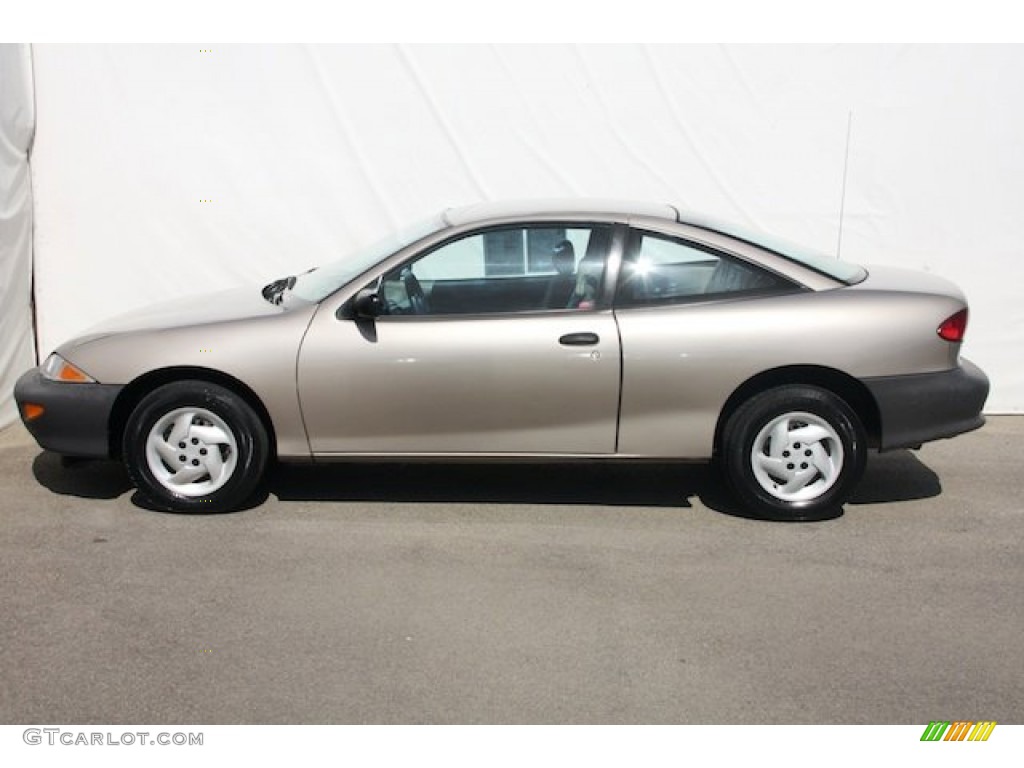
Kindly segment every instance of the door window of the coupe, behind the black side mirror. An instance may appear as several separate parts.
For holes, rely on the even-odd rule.
[[[450,241],[384,275],[384,314],[495,314],[596,306],[611,227],[503,227]]]

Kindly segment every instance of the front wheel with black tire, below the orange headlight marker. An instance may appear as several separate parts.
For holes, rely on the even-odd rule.
[[[169,438],[176,429],[188,431],[172,445]],[[173,456],[166,455],[168,446]],[[256,490],[269,439],[259,417],[237,394],[218,384],[187,380],[165,384],[139,401],[125,427],[122,457],[154,507],[223,512],[237,509]]]

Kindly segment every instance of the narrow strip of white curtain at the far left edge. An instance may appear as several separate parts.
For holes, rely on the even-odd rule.
[[[0,429],[17,418],[14,382],[35,364],[32,332],[32,51],[0,45]]]

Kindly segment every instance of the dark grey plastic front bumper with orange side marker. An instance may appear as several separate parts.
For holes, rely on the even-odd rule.
[[[120,384],[71,384],[46,379],[32,369],[14,385],[22,421],[36,442],[65,456],[110,456],[110,421]],[[42,416],[27,420],[23,406],[42,406]]]

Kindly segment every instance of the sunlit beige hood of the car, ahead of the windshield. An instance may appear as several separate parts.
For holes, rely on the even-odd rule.
[[[155,331],[184,326],[261,317],[287,311],[263,298],[257,286],[188,296],[119,314],[90,328],[79,343],[128,331]]]

